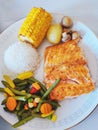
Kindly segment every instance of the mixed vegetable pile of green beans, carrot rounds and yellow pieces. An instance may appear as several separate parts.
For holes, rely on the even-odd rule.
[[[56,120],[54,112],[60,105],[57,101],[49,99],[49,93],[60,79],[47,90],[33,77],[31,71],[21,73],[13,80],[8,75],[4,75],[3,78],[1,82],[4,88],[0,88],[0,91],[4,93],[5,99],[2,105],[6,112],[16,114],[19,121],[13,125],[14,128],[35,117]]]

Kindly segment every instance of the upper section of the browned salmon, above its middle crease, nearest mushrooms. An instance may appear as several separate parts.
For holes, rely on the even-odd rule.
[[[45,67],[53,67],[63,63],[76,64],[77,62],[85,64],[86,60],[75,40],[49,46],[45,50]]]

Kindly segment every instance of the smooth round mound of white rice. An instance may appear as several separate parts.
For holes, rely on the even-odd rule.
[[[14,43],[5,51],[4,63],[14,73],[35,71],[39,63],[39,55],[35,48],[26,43]]]

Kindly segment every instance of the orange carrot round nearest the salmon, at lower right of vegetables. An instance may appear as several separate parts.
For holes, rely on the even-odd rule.
[[[43,103],[40,107],[40,111],[43,114],[47,114],[47,113],[51,112],[51,110],[52,110],[52,106],[49,103]]]

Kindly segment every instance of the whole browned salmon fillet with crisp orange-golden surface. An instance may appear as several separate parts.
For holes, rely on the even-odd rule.
[[[94,90],[86,59],[77,40],[47,47],[44,55],[44,83],[49,88],[56,79],[60,83],[50,93],[52,100],[76,97]]]

